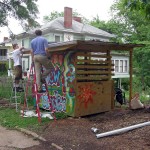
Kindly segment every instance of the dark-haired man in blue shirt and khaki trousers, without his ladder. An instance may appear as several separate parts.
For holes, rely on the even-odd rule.
[[[32,61],[35,65],[36,73],[36,83],[38,86],[38,92],[44,92],[42,90],[42,83],[45,82],[45,78],[50,73],[50,70],[53,68],[52,63],[48,59],[48,41],[42,36],[41,30],[35,31],[36,38],[31,41],[31,55]],[[43,74],[41,74],[42,65],[46,69]]]

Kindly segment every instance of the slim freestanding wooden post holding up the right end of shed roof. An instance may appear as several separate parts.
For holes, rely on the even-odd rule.
[[[133,75],[133,68],[132,68],[132,61],[133,61],[133,49],[130,49],[130,61],[129,61],[129,73],[130,73],[130,91],[129,91],[129,107],[131,107],[131,99],[132,99],[132,75]]]

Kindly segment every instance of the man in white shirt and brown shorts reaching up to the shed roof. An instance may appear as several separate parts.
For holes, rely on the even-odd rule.
[[[14,61],[14,75],[15,82],[13,85],[13,90],[16,92],[23,92],[23,88],[19,87],[19,82],[22,80],[22,50],[24,47],[19,48],[18,44],[13,44],[13,61]]]

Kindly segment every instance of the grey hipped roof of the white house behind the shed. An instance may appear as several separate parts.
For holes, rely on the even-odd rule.
[[[58,17],[40,28],[43,32],[44,31],[65,31],[68,33],[79,33],[79,34],[94,34],[97,36],[103,36],[112,38],[115,37],[115,35],[110,34],[106,31],[103,31],[101,29],[98,29],[96,27],[93,27],[88,24],[83,24],[78,21],[72,20],[72,28],[65,28],[64,27],[64,17]],[[34,31],[30,31],[29,34],[33,34]]]

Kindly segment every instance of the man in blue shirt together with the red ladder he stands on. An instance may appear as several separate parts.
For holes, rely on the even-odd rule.
[[[34,38],[31,41],[31,55],[32,55],[32,67],[34,67],[35,71],[35,82],[34,83],[34,95],[36,98],[36,111],[38,114],[38,120],[41,121],[41,113],[39,109],[39,103],[40,103],[40,93],[45,93],[45,90],[43,90],[42,85],[44,84],[44,87],[46,88],[46,95],[48,97],[48,104],[49,104],[49,110],[54,113],[52,102],[50,100],[50,95],[48,92],[48,87],[46,85],[45,78],[50,73],[51,69],[53,68],[53,65],[51,61],[49,60],[48,56],[48,41],[42,37],[42,31],[36,30],[35,31],[36,38]],[[41,73],[42,68],[45,68],[44,73]],[[32,68],[33,69],[33,68]],[[55,118],[55,116],[54,116]]]

